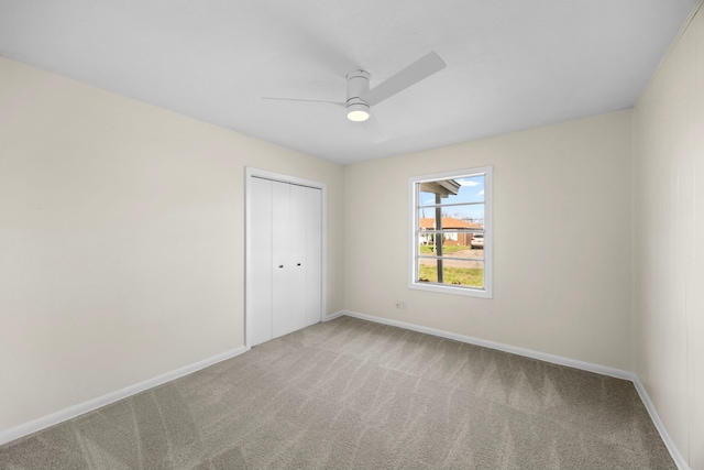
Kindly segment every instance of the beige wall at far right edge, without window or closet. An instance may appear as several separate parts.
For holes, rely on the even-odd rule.
[[[636,372],[704,469],[704,12],[634,111]]]

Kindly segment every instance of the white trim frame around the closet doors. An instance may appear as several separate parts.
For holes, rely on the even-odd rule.
[[[271,179],[273,182],[279,183],[288,183],[298,186],[307,186],[310,188],[320,189],[321,194],[321,265],[320,265],[320,276],[321,276],[321,285],[320,285],[320,321],[324,320],[326,311],[327,311],[327,271],[328,271],[328,261],[327,261],[327,252],[328,252],[328,219],[327,219],[327,184],[316,182],[312,179],[299,178],[296,176],[285,175],[283,173],[274,173],[266,170],[255,168],[252,166],[246,166],[244,168],[244,347],[249,350],[251,345],[252,331],[251,326],[253,324],[252,318],[252,308],[250,308],[250,299],[252,298],[252,240],[253,233],[252,229],[252,178],[264,178]]]

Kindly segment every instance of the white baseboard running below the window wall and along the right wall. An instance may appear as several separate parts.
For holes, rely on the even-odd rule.
[[[575,359],[563,358],[561,356],[548,354],[546,352],[539,352],[539,351],[534,351],[534,350],[530,350],[530,349],[518,348],[518,347],[515,347],[515,346],[504,345],[504,343],[501,343],[501,342],[487,341],[485,339],[474,338],[474,337],[465,336],[465,335],[458,335],[458,334],[453,334],[453,332],[450,332],[450,331],[439,330],[439,329],[435,329],[435,328],[428,328],[428,327],[424,327],[424,326],[419,326],[419,325],[407,324],[405,321],[392,320],[392,319],[388,319],[388,318],[375,317],[373,315],[360,314],[358,311],[350,311],[350,310],[339,311],[339,313],[334,314],[334,317],[332,317],[332,316],[329,317],[329,319],[331,320],[331,319],[338,318],[338,317],[340,317],[342,315],[346,315],[348,317],[353,317],[353,318],[360,318],[360,319],[363,319],[363,320],[374,321],[374,323],[377,323],[377,324],[383,324],[383,325],[389,325],[389,326],[394,326],[394,327],[405,328],[405,329],[408,329],[408,330],[411,330],[411,331],[425,332],[425,334],[432,335],[432,336],[438,336],[438,337],[441,337],[441,338],[448,338],[448,339],[453,339],[453,340],[460,341],[460,342],[466,342],[469,345],[482,346],[482,347],[485,347],[485,348],[491,348],[491,349],[496,349],[496,350],[499,350],[499,351],[510,352],[512,354],[524,356],[526,358],[538,359],[540,361],[551,362],[553,364],[565,365],[565,367],[573,368],[573,369],[580,369],[580,370],[587,371],[587,372],[594,372],[594,373],[602,374],[602,375],[608,375],[608,376],[613,376],[613,378],[616,378],[616,379],[623,379],[623,380],[630,381],[630,382],[634,383],[634,386],[636,387],[636,391],[638,392],[638,395],[640,395],[640,400],[642,401],[644,405],[646,406],[646,409],[648,411],[648,414],[650,415],[650,418],[652,419],[652,423],[654,424],[656,428],[658,429],[658,433],[660,433],[660,437],[662,438],[662,441],[664,442],[666,447],[668,448],[668,451],[670,452],[670,456],[672,456],[672,460],[674,460],[674,463],[678,466],[678,469],[680,469],[680,470],[690,470],[689,464],[686,463],[686,461],[682,457],[682,453],[680,453],[680,450],[674,445],[674,441],[672,440],[672,438],[670,437],[670,434],[666,429],[664,424],[660,419],[660,416],[658,416],[658,412],[656,411],[654,405],[650,401],[650,396],[648,396],[648,392],[646,391],[646,387],[642,385],[642,383],[640,382],[640,379],[638,379],[638,375],[635,372],[629,372],[629,371],[624,371],[624,370],[620,370],[620,369],[608,368],[608,367],[605,367],[605,365],[594,364],[594,363],[591,363],[591,362],[578,361]]]

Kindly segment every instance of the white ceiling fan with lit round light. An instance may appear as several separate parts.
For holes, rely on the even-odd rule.
[[[326,101],[317,99],[297,99],[297,98],[271,98],[263,97],[263,99],[275,99],[285,101],[305,101],[305,102],[322,102],[336,106],[344,107],[346,116],[350,121],[364,122],[372,116],[371,108],[384,101],[387,98],[405,90],[411,85],[427,78],[437,72],[442,70],[446,67],[446,63],[435,52],[430,52],[418,61],[414,62],[406,68],[397,72],[396,75],[382,81],[374,88],[370,89],[371,75],[366,70],[352,70],[346,75],[348,92],[346,101]],[[373,129],[372,129],[373,130]],[[374,131],[374,130],[373,130]],[[376,134],[375,141],[386,140],[386,138],[380,138],[380,133]]]

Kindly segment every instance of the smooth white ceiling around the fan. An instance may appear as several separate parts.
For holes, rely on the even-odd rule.
[[[0,55],[341,164],[630,108],[697,0],[0,0]],[[447,68],[344,109],[435,51]]]

